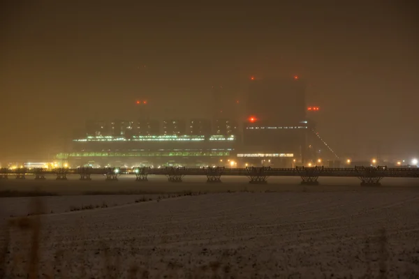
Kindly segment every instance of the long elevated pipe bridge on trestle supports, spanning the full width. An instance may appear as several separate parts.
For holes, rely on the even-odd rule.
[[[185,168],[185,167],[106,167],[92,168],[80,167],[77,169],[0,169],[0,179],[26,179],[28,175],[34,179],[46,179],[46,175],[55,175],[57,180],[67,180],[69,175],[78,175],[80,180],[89,181],[92,175],[103,175],[106,181],[117,181],[122,175],[135,175],[135,181],[148,181],[149,175],[166,176],[170,182],[182,182],[184,176],[205,176],[209,183],[221,182],[221,176],[247,176],[249,183],[267,183],[270,176],[300,176],[301,183],[317,185],[318,178],[329,177],[356,177],[360,179],[361,186],[381,185],[381,179],[385,177],[419,178],[418,168],[389,168],[377,167],[353,167],[353,168],[328,168],[328,167],[295,167],[295,168],[271,168],[271,167],[246,167],[246,168]]]

